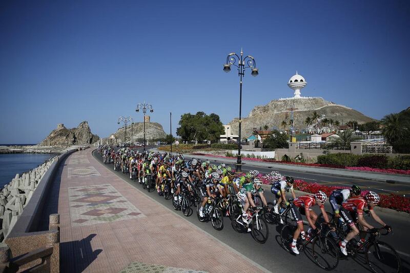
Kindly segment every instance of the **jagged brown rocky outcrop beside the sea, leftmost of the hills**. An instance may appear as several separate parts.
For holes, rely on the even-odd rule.
[[[92,144],[99,140],[97,135],[91,133],[91,129],[87,121],[78,124],[77,128],[67,129],[64,124],[57,125],[57,129],[53,130],[39,146],[68,146],[78,144]]]

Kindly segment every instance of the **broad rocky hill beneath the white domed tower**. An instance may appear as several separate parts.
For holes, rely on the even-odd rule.
[[[276,126],[281,127],[283,120],[290,120],[291,111],[294,110],[295,128],[303,130],[306,128],[304,123],[306,117],[312,116],[316,111],[318,115],[325,115],[327,119],[338,120],[340,123],[347,121],[357,121],[359,124],[374,120],[362,113],[331,101],[326,101],[323,98],[292,98],[282,100],[272,100],[265,106],[256,106],[249,114],[249,117],[242,118],[242,138],[252,134],[253,128],[259,129],[268,125],[271,129]],[[238,119],[232,120],[230,123],[232,134],[238,134]],[[289,128],[289,125],[286,126]]]

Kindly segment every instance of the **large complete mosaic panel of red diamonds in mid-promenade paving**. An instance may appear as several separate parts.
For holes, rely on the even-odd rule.
[[[110,185],[69,187],[71,225],[92,225],[145,217]]]

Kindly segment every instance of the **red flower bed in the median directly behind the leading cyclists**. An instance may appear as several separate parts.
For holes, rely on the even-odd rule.
[[[318,183],[310,183],[304,180],[295,180],[293,184],[295,189],[306,192],[306,193],[317,193],[318,191],[324,192],[327,196],[338,189],[338,188],[348,188],[344,186],[326,186],[320,185]],[[364,196],[368,191],[362,191],[361,195]],[[380,195],[380,202],[378,204],[380,207],[396,209],[396,211],[410,213],[410,199],[404,196],[389,194]]]

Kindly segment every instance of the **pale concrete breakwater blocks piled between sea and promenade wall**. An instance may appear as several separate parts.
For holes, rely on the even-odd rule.
[[[0,191],[0,241],[3,241],[23,213],[34,191],[56,157],[46,160],[35,169],[20,174]]]

